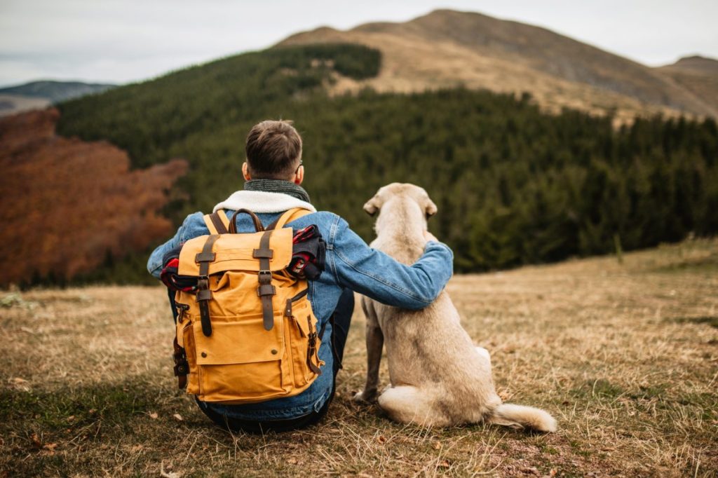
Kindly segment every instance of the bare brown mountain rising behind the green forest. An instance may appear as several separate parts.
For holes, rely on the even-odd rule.
[[[470,12],[437,10],[404,23],[363,24],[347,31],[321,27],[279,45],[323,42],[365,44],[383,54],[377,78],[337,83],[335,92],[370,86],[411,92],[436,88],[486,88],[531,93],[548,111],[579,108],[636,114],[718,116],[718,95],[705,96],[654,69],[548,29]],[[708,74],[714,80],[718,75]]]

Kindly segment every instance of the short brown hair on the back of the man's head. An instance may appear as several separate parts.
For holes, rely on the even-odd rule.
[[[302,137],[292,121],[262,121],[249,131],[244,151],[256,179],[287,179],[302,159]]]

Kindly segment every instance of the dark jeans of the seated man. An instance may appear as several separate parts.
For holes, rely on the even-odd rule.
[[[266,420],[266,421],[253,421],[253,420],[241,420],[239,418],[232,418],[217,413],[210,408],[207,408],[204,403],[197,400],[197,405],[200,406],[200,410],[205,413],[213,422],[218,426],[231,430],[231,431],[246,431],[251,434],[265,434],[268,431],[290,431],[297,430],[297,428],[306,428],[312,426],[320,421],[329,410],[329,404],[334,399],[336,390],[337,372],[341,367],[341,361],[344,357],[344,346],[347,343],[347,334],[349,333],[349,326],[352,322],[352,313],[354,311],[354,293],[349,289],[345,289],[342,296],[337,303],[337,308],[334,311],[334,327],[332,327],[332,347],[335,351],[334,355],[334,381],[332,383],[332,394],[330,395],[327,402],[320,408],[319,411],[313,411],[307,415],[300,416],[297,418],[289,418],[286,420]],[[322,342],[327,342],[327,337],[324,337]]]

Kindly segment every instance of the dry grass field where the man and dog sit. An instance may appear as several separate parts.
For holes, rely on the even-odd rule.
[[[231,435],[176,389],[159,286],[5,292],[0,476],[717,476],[718,240],[457,276],[449,292],[500,394],[546,408],[556,434],[423,429],[355,405],[358,313],[320,426]]]

